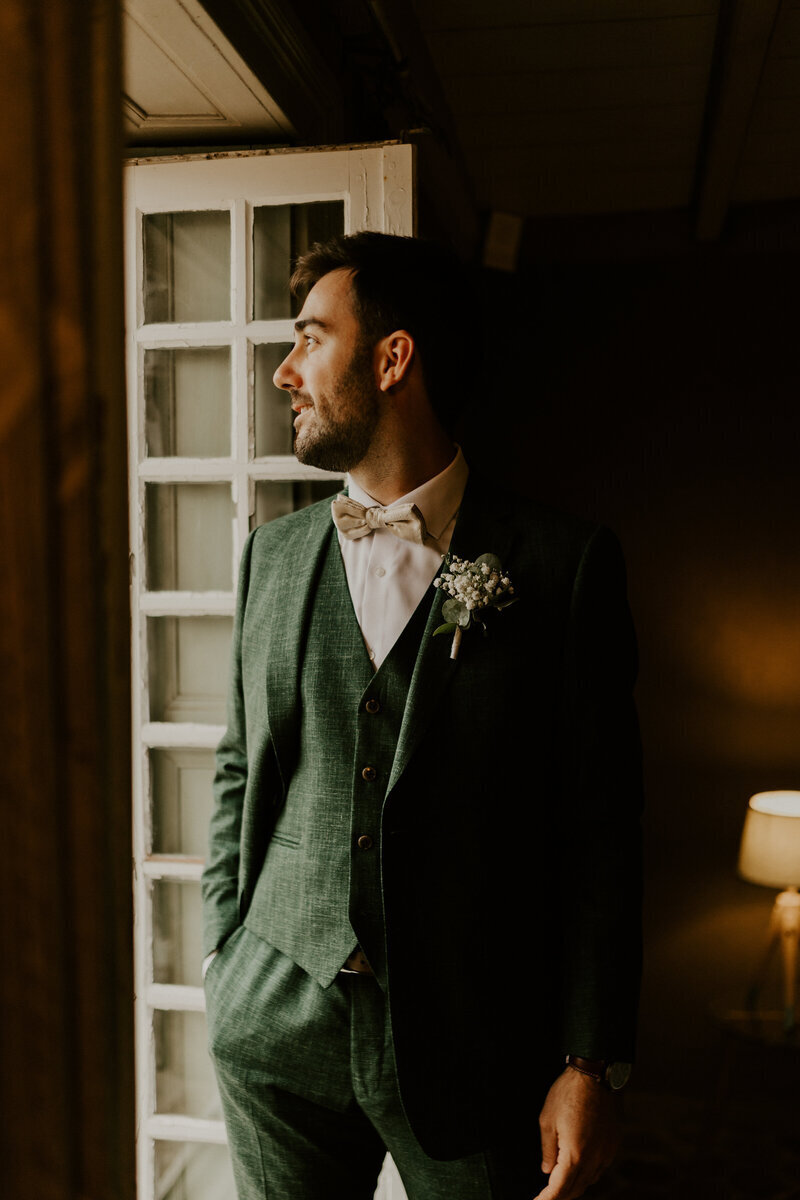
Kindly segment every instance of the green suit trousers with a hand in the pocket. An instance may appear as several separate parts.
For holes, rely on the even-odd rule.
[[[321,988],[241,925],[205,989],[239,1200],[371,1200],[386,1151],[409,1200],[531,1200],[543,1187],[536,1127],[468,1158],[423,1153],[373,977]]]

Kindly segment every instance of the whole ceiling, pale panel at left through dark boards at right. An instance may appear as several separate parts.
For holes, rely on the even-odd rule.
[[[732,205],[800,196],[800,0],[308,5],[125,0],[131,140],[413,126],[479,212],[681,209],[705,239]]]

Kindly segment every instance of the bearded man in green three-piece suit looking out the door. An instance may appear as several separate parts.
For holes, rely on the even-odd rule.
[[[389,1148],[409,1200],[572,1200],[615,1148],[638,986],[621,556],[468,479],[443,251],[361,233],[293,283],[275,382],[297,458],[350,484],[242,554],[203,886],[239,1195],[360,1200]],[[456,559],[482,554],[453,636]],[[475,608],[487,577],[515,602]]]

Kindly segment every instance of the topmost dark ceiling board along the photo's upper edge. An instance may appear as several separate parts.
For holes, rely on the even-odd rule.
[[[800,2],[800,0],[799,0]],[[651,20],[716,13],[718,0],[416,0],[426,31],[492,25],[543,25],[600,20]]]

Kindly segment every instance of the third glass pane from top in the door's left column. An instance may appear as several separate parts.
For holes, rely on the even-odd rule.
[[[230,485],[148,484],[145,497],[150,592],[230,592]]]

